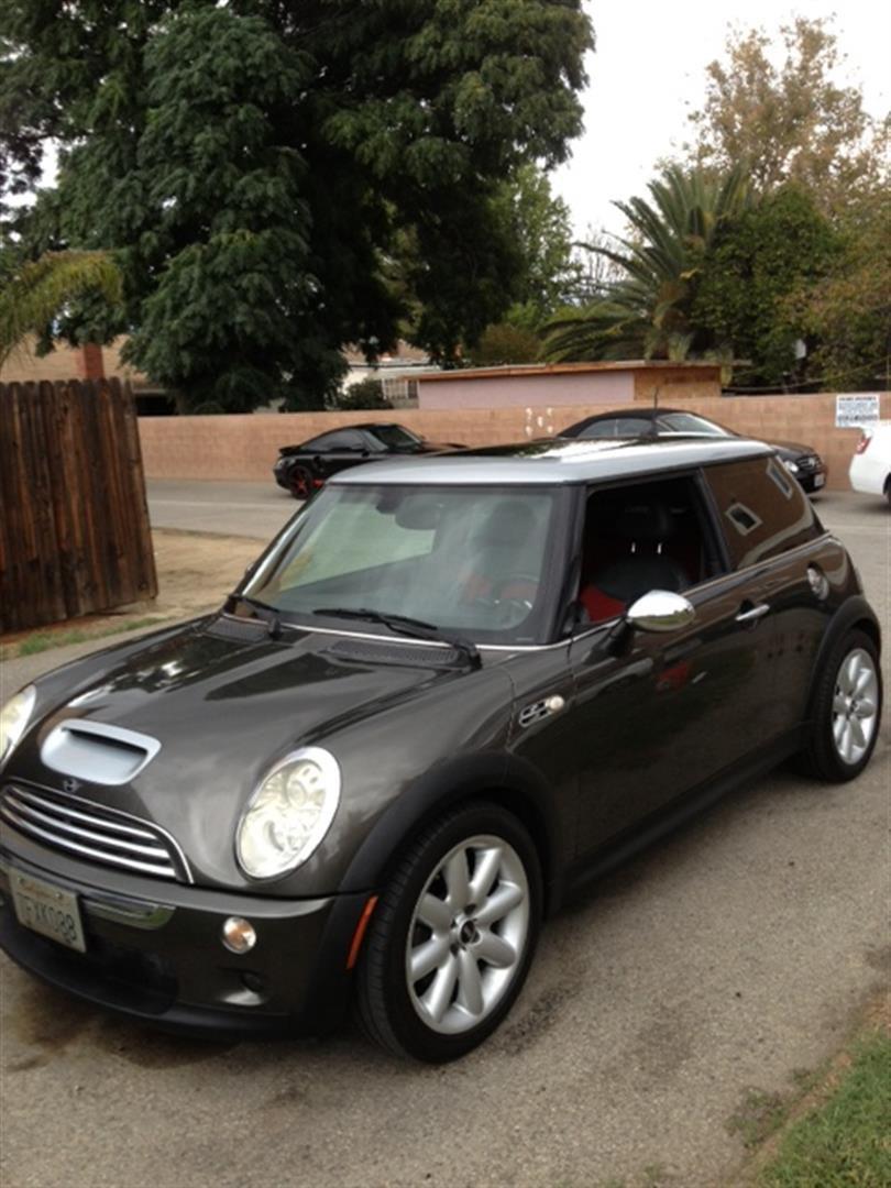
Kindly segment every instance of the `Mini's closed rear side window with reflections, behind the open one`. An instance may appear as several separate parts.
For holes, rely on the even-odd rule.
[[[779,459],[706,468],[734,569],[776,557],[820,536],[820,524]]]

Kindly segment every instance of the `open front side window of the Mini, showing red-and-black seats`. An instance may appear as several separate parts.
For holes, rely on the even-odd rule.
[[[681,593],[718,571],[695,480],[658,479],[588,495],[579,601],[589,621],[621,614],[650,590]]]

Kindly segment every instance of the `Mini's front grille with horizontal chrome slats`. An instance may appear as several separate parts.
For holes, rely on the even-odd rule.
[[[137,874],[191,881],[179,847],[157,826],[76,796],[8,785],[0,794],[0,819],[19,833],[76,858]]]

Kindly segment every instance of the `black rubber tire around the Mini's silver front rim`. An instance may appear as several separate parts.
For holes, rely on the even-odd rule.
[[[448,855],[465,842],[481,836],[506,842],[511,860],[519,858],[522,862],[529,899],[525,940],[517,947],[516,966],[506,975],[508,980],[488,1013],[475,1025],[470,1025],[468,1016],[467,1030],[444,1035],[422,1018],[421,1009],[416,1005],[417,986],[424,982],[421,980],[413,988],[410,987],[406,971],[410,931],[412,943],[423,943],[423,939],[417,940],[417,930],[424,925],[416,920],[416,908],[419,906],[422,893],[425,889],[434,890],[435,883],[430,880]],[[468,868],[473,874],[475,867],[468,862]],[[500,886],[500,874],[492,886]],[[500,805],[484,801],[463,804],[442,816],[402,857],[372,916],[358,968],[356,1013],[364,1031],[396,1055],[412,1056],[430,1063],[456,1060],[476,1048],[498,1028],[523,988],[538,940],[541,916],[542,873],[538,854],[517,817]],[[454,931],[454,920],[451,927]],[[467,953],[457,954],[459,947],[465,948],[462,944],[450,947],[455,960],[469,960]],[[467,948],[472,946],[468,943]],[[446,960],[450,959],[447,956]],[[492,975],[494,967],[489,968],[485,960],[475,963],[482,971],[484,979]],[[431,972],[430,978],[438,978],[440,973],[437,968]],[[447,1009],[449,1016],[463,1010],[459,1001],[457,984],[450,1003]]]

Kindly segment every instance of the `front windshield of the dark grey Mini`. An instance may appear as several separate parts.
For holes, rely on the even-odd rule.
[[[272,545],[245,594],[285,618],[377,611],[478,640],[537,643],[550,621],[557,503],[542,487],[334,484]]]

